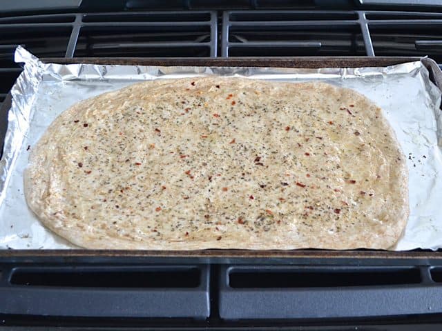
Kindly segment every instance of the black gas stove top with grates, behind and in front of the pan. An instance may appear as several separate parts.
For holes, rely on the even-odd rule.
[[[0,103],[21,72],[12,61],[17,45],[67,59],[428,55],[442,63],[442,6],[434,2],[131,0],[100,7],[66,0],[30,8],[15,1],[0,8]],[[1,258],[0,326],[440,330],[440,259],[324,260],[314,253],[271,265]]]

